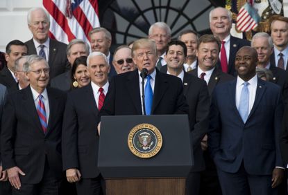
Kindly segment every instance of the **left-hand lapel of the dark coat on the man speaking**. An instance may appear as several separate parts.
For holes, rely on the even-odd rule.
[[[140,97],[140,89],[139,89],[139,74],[136,69],[136,71],[133,71],[130,73],[127,77],[127,82],[126,82],[126,89],[127,90],[131,100],[137,110],[137,113],[139,115],[142,115],[142,107],[141,107],[141,97]]]

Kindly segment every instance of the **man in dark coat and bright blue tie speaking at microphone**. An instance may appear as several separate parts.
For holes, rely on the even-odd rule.
[[[147,88],[150,88],[153,93],[153,97],[147,100],[147,102],[151,102],[145,104],[146,111],[149,110],[146,115],[186,114],[188,106],[183,95],[181,80],[160,73],[155,68],[157,61],[155,41],[150,39],[135,41],[132,48],[132,57],[137,70],[112,77],[100,116],[142,115],[144,113],[142,111],[142,91],[140,91],[140,72],[142,68],[148,70],[145,85],[148,83],[147,80],[150,80]]]

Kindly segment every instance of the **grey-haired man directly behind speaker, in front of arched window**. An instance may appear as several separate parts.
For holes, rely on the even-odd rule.
[[[158,21],[152,24],[149,28],[149,39],[153,39],[156,43],[158,61],[156,62],[156,67],[160,71],[161,67],[166,65],[164,59],[167,44],[171,40],[171,29],[170,27],[162,22]]]

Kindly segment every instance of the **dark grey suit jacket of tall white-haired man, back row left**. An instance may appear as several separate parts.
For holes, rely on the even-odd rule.
[[[33,39],[26,41],[25,44],[28,48],[28,55],[38,55]],[[65,71],[70,70],[71,65],[67,59],[66,48],[67,44],[56,41],[55,39],[50,39],[48,57],[48,64],[50,67],[50,79],[56,77],[57,75],[60,75],[61,73],[64,73]]]

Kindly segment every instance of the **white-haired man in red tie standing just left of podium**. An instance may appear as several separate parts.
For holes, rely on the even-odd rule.
[[[67,180],[76,182],[78,194],[101,194],[101,175],[97,167],[99,135],[96,124],[108,92],[110,65],[105,54],[87,58],[91,84],[71,91],[67,97],[62,133],[62,161]]]

